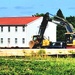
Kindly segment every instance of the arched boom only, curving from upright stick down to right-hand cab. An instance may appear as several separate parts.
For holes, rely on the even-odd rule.
[[[52,14],[50,14],[50,15],[52,15]],[[66,31],[69,33],[75,32],[73,25],[71,23],[69,23],[67,20],[65,20],[61,17],[55,16],[55,15],[52,15],[52,16],[58,18],[58,20],[56,20],[56,19],[52,20],[53,23],[65,27]]]

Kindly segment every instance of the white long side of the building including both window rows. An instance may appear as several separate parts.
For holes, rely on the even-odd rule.
[[[0,46],[25,46],[25,26],[0,26]]]

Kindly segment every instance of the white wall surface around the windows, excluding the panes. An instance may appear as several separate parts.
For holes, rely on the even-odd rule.
[[[0,47],[23,47],[25,44],[22,44],[22,38],[25,38],[25,36],[25,32],[22,31],[21,26],[18,27],[17,32],[15,32],[15,26],[10,26],[10,32],[8,32],[8,26],[4,26],[3,32],[0,30]],[[1,38],[3,38],[3,44],[1,44]],[[10,44],[8,44],[8,38],[10,38]],[[15,38],[18,38],[17,44],[15,44]]]

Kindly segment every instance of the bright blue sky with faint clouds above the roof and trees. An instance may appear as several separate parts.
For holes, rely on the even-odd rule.
[[[75,0],[0,0],[0,17],[32,16],[58,9],[65,17],[75,16]]]

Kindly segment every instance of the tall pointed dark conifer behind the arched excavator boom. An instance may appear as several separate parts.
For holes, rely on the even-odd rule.
[[[57,11],[56,16],[64,18],[61,9],[59,9]],[[64,27],[57,25],[57,32],[56,32],[57,33],[57,41],[64,41],[65,40],[65,32],[66,32],[66,29]]]

